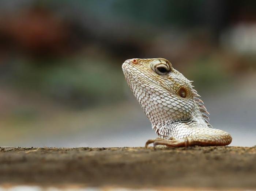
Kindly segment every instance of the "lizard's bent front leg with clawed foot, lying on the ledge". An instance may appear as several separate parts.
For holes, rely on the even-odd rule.
[[[210,128],[198,128],[200,132],[195,133],[194,135],[189,135],[183,139],[175,139],[171,137],[170,139],[150,139],[146,142],[146,147],[153,143],[154,147],[157,145],[166,145],[167,147],[188,147],[188,146],[225,146],[229,145],[232,141],[232,137],[229,133],[219,130],[219,129],[210,129]]]

